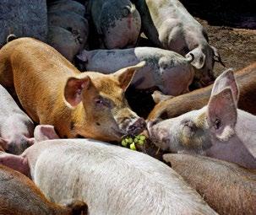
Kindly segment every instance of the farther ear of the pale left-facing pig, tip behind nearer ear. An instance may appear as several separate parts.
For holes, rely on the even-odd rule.
[[[233,94],[233,99],[237,104],[239,91],[237,88],[237,82],[234,77],[233,69],[231,68],[227,69],[226,71],[221,73],[221,75],[218,78],[216,78],[211,94],[218,94],[223,89],[226,89],[226,88],[231,89],[231,92]]]

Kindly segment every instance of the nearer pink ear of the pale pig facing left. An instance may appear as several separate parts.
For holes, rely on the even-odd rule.
[[[210,132],[219,140],[227,141],[235,133],[237,105],[230,88],[210,96],[206,116]]]

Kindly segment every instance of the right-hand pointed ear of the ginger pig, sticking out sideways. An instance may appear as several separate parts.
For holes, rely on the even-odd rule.
[[[145,62],[139,62],[137,65],[133,67],[125,67],[123,69],[118,70],[116,73],[114,73],[114,76],[117,77],[120,87],[123,90],[128,89],[129,84],[133,80],[133,76],[135,72],[139,68],[144,67],[144,65],[145,65]]]

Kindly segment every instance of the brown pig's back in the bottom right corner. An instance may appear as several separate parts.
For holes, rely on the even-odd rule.
[[[255,214],[256,171],[204,156],[170,153],[163,158],[216,212]]]

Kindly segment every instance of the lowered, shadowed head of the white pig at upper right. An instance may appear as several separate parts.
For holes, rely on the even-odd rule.
[[[189,51],[186,58],[191,62],[195,71],[193,83],[200,88],[215,80],[213,72],[215,62],[220,62],[224,66],[217,49],[207,42]]]

